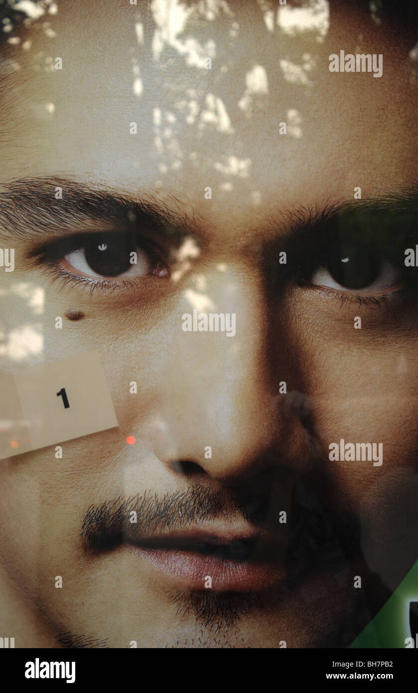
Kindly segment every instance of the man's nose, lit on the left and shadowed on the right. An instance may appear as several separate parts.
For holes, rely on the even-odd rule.
[[[271,450],[288,463],[304,455],[302,423],[284,413],[286,394],[280,393],[284,382],[294,387],[283,356],[286,335],[282,331],[280,344],[271,343],[277,319],[262,281],[248,272],[213,270],[201,284],[204,290],[185,290],[179,304],[161,385],[156,454],[167,463],[194,462],[224,482],[270,465]],[[235,315],[235,335],[232,329],[230,336],[215,331],[215,319],[210,331],[210,313],[224,314],[226,326]]]

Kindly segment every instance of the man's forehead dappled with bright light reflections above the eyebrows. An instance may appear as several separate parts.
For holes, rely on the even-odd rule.
[[[18,70],[5,179],[99,177],[181,195],[218,222],[233,207],[238,227],[260,209],[408,184],[412,46],[347,6],[57,3],[9,49]],[[331,73],[340,50],[383,55],[383,75]]]

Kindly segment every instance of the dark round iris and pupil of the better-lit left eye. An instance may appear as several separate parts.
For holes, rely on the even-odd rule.
[[[101,249],[100,249],[101,248]],[[116,277],[129,270],[129,254],[135,249],[135,243],[128,236],[98,235],[84,247],[86,262],[96,274],[103,277]]]

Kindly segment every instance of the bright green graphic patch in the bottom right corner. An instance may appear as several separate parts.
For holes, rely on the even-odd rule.
[[[405,649],[405,638],[413,638],[410,632],[409,603],[418,602],[418,561],[399,587],[388,599],[374,619],[357,636],[350,648],[401,647]]]

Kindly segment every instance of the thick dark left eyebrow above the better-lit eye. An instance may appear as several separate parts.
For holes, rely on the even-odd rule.
[[[69,177],[30,177],[1,184],[0,237],[34,240],[57,231],[83,231],[98,222],[113,227],[147,227],[170,238],[172,243],[191,232],[190,215],[197,227],[197,212],[183,200],[170,195],[167,202],[147,193],[143,200],[110,187],[80,182]],[[62,199],[56,199],[62,188]],[[90,229],[85,229],[86,231]]]

